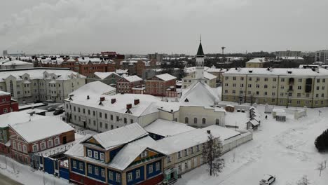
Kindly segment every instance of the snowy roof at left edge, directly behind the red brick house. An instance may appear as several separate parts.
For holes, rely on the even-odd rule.
[[[26,111],[9,112],[7,114],[0,115],[0,128],[6,128],[9,124],[14,125],[18,123],[28,123],[30,120],[34,121],[41,118],[45,117],[37,114],[30,116]]]

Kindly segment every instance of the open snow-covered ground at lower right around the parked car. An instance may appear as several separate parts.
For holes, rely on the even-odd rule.
[[[328,169],[319,177],[317,167],[328,160],[328,153],[318,153],[314,141],[328,128],[328,109],[308,109],[308,116],[299,120],[290,116],[287,122],[275,121],[270,114],[268,120],[264,119],[263,105],[258,110],[262,121],[254,139],[224,154],[225,167],[218,177],[210,177],[203,165],[183,174],[177,184],[259,184],[264,174],[273,174],[277,177],[275,184],[296,184],[307,175],[312,185],[327,185]]]

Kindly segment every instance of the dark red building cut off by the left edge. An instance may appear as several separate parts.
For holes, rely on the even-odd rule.
[[[0,90],[0,115],[18,111],[18,102],[11,100],[11,93]]]

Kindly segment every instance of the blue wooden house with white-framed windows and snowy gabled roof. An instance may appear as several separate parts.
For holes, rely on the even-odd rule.
[[[93,135],[65,154],[74,184],[158,184],[163,153],[138,123]]]

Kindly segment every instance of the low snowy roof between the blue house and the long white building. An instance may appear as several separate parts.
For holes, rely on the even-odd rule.
[[[184,123],[178,123],[175,121],[168,121],[161,118],[158,118],[156,121],[153,121],[150,125],[147,125],[144,130],[151,132],[156,135],[161,135],[164,137],[170,135],[177,135],[182,132],[188,132],[194,130],[195,128],[188,126]]]

